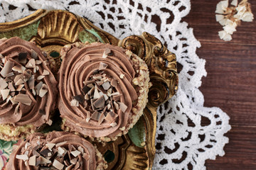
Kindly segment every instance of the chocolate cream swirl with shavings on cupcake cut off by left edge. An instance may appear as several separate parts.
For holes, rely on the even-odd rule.
[[[32,42],[0,40],[0,124],[48,123],[55,109],[57,81],[46,57]]]

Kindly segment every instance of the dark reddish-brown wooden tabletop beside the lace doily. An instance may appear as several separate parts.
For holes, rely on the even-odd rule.
[[[255,20],[242,22],[230,42],[218,38],[218,1],[191,0],[191,12],[183,18],[201,42],[197,55],[206,60],[208,75],[200,88],[205,106],[221,108],[232,126],[225,156],[208,160],[208,170],[256,169],[256,1],[248,1]]]

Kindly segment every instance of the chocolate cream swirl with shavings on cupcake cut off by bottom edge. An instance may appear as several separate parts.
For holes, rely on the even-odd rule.
[[[102,154],[90,142],[69,132],[34,133],[10,155],[6,169],[104,169]]]

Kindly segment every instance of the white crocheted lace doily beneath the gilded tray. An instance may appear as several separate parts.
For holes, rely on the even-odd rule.
[[[206,159],[225,154],[223,147],[228,137],[223,135],[230,130],[230,118],[220,108],[203,107],[203,94],[198,87],[206,76],[206,61],[196,55],[201,44],[193,29],[181,21],[190,11],[189,0],[0,2],[0,22],[23,18],[38,8],[63,9],[84,16],[117,38],[140,35],[143,31],[159,38],[176,54],[182,69],[176,96],[158,110],[153,169],[206,169]],[[202,125],[202,119],[208,119],[208,125]]]

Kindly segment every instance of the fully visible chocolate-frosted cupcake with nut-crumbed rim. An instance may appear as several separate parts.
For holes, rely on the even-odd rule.
[[[58,108],[64,126],[101,140],[126,133],[134,116],[142,114],[146,102],[141,101],[147,100],[146,64],[122,47],[100,42],[68,45],[61,55]],[[139,92],[143,88],[145,98]]]

